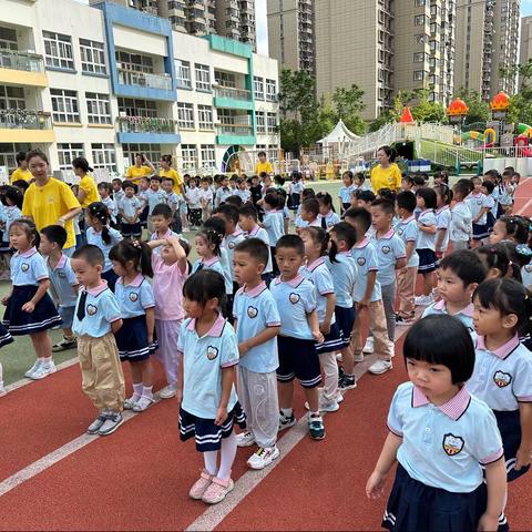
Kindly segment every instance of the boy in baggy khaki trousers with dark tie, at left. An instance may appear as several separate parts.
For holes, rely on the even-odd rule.
[[[122,327],[119,303],[102,279],[105,260],[98,246],[78,248],[71,259],[81,285],[74,313],[82,388],[100,410],[88,433],[108,436],[123,422],[125,386],[114,334]]]

